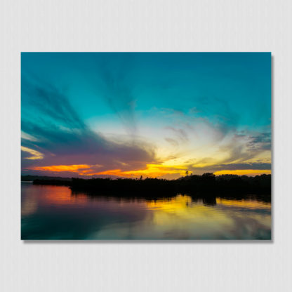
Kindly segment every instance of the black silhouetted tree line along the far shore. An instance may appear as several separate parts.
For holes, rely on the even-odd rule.
[[[34,185],[65,185],[72,191],[84,191],[91,194],[132,194],[135,197],[147,197],[160,194],[161,197],[171,197],[173,194],[216,194],[228,197],[240,197],[244,194],[257,194],[261,197],[271,196],[271,175],[214,175],[204,173],[203,175],[187,175],[176,180],[159,178],[72,178],[55,180],[54,178],[42,180],[35,179]]]

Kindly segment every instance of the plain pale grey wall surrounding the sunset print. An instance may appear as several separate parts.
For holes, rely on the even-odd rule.
[[[1,291],[292,291],[291,13],[290,0],[1,0]],[[20,241],[21,51],[272,51],[273,242]]]

